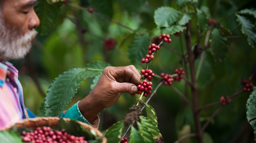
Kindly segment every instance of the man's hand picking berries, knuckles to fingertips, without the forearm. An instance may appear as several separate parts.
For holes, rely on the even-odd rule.
[[[141,75],[133,66],[106,67],[89,96],[94,96],[95,101],[105,108],[115,104],[122,93],[135,96]]]

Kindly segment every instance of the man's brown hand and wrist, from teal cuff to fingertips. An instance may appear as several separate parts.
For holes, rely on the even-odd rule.
[[[114,105],[122,93],[135,96],[141,75],[133,66],[106,67],[91,93],[78,103],[90,122],[104,108]]]

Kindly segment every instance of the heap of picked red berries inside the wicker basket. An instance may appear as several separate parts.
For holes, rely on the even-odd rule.
[[[64,129],[61,131],[52,130],[51,127],[37,127],[35,130],[30,132],[22,132],[23,142],[32,143],[88,143],[84,136],[74,136],[65,132]]]

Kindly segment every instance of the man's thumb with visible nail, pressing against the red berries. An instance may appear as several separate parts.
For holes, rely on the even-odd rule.
[[[132,83],[118,83],[116,82],[116,91],[121,93],[136,93],[138,87]]]

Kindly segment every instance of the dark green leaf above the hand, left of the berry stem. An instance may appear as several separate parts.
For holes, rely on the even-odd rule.
[[[149,46],[149,34],[136,36],[135,40],[129,44],[128,57],[132,63],[140,63],[141,58],[145,57]]]

